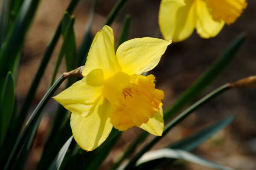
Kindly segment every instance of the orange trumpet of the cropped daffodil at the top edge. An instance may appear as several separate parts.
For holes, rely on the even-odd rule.
[[[205,0],[211,8],[216,21],[224,20],[228,25],[234,23],[246,8],[246,0]]]

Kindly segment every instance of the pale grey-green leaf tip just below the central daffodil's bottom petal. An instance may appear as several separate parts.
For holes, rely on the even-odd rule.
[[[64,159],[64,156],[67,153],[67,149],[70,146],[70,143],[73,139],[73,136],[71,136],[67,142],[63,145],[63,147],[61,148],[61,150],[59,151],[58,155],[56,156],[56,158],[53,160],[51,166],[49,167],[49,170],[59,170],[61,167],[61,163]]]

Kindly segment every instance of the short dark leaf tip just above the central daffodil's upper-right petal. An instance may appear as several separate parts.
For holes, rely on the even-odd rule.
[[[119,35],[119,40],[118,40],[118,45],[121,45],[123,42],[128,40],[128,36],[130,34],[130,29],[131,29],[131,16],[127,14],[125,16],[125,21],[122,25],[122,31],[121,34]]]

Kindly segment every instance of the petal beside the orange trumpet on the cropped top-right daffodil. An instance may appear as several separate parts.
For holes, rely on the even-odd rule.
[[[215,21],[209,11],[209,7],[203,0],[196,1],[196,14],[198,17],[196,31],[202,38],[215,37],[223,28],[224,21]]]

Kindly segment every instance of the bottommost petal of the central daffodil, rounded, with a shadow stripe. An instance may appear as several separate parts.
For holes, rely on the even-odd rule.
[[[87,151],[99,147],[104,142],[112,130],[109,111],[111,105],[104,97],[100,97],[93,113],[82,117],[77,114],[71,114],[70,125],[74,139],[79,146]]]

